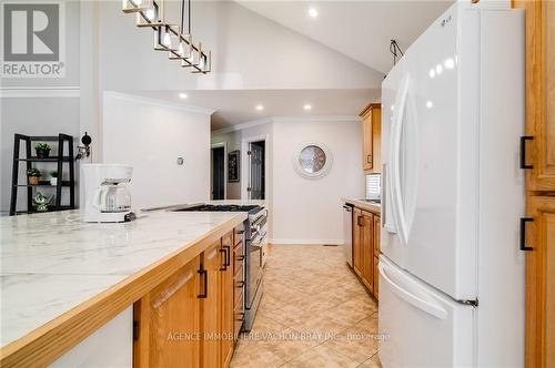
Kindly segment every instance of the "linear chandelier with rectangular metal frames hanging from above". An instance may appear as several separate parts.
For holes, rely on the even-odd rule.
[[[212,69],[212,52],[203,51],[202,43],[193,43],[191,35],[191,0],[188,0],[185,30],[185,0],[181,0],[179,25],[165,21],[164,0],[123,0],[124,13],[137,13],[137,27],[154,30],[154,50],[168,52],[170,60],[181,61],[192,73],[206,74]]]

